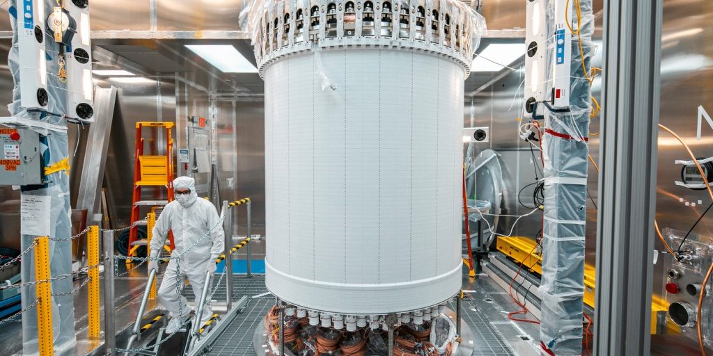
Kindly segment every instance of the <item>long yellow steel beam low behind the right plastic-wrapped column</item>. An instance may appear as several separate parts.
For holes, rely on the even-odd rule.
[[[524,268],[538,273],[542,276],[542,256],[537,251],[537,244],[533,239],[521,236],[513,236],[508,238],[498,237],[496,244],[498,251],[505,253],[508,257],[513,258],[518,263],[523,263]],[[584,268],[584,303],[594,308],[595,302],[595,286],[596,286],[596,268],[589,264]],[[668,310],[668,303],[665,300],[653,296],[651,304],[651,332],[656,333],[656,314],[660,311]],[[671,325],[672,323],[668,323]],[[670,332],[676,332],[675,327],[669,326]]]

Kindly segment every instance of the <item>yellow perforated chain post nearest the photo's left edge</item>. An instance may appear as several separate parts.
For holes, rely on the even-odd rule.
[[[37,293],[37,336],[40,356],[54,355],[52,335],[52,283],[49,281],[49,238],[35,238],[35,288]]]

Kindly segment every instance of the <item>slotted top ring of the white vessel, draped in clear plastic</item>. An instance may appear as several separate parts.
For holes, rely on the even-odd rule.
[[[409,48],[447,56],[470,73],[483,16],[453,0],[257,0],[247,11],[257,66],[319,48]]]

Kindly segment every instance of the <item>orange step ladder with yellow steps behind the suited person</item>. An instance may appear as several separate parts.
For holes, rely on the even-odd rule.
[[[134,150],[134,182],[133,198],[131,202],[131,231],[129,234],[128,256],[136,256],[139,246],[145,246],[145,240],[138,240],[138,225],[140,221],[140,210],[142,206],[156,207],[165,206],[173,201],[173,137],[171,129],[174,122],[136,122],[136,142]],[[144,155],[142,129],[144,127],[166,131],[166,155]],[[168,200],[141,200],[141,189],[143,187],[166,187],[168,189]],[[173,235],[169,232],[170,248],[173,249]]]

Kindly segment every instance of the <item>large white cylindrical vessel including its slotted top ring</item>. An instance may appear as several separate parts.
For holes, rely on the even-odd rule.
[[[473,23],[450,1],[438,5],[441,16],[416,6],[409,15],[404,3],[406,22],[421,24],[404,28],[399,4],[377,2],[371,17],[397,20],[366,31],[361,19],[370,18],[371,2],[364,9],[349,3],[304,9],[289,3],[290,9],[276,1],[258,19],[266,283],[299,308],[410,318],[461,287],[463,80]],[[344,14],[356,7],[354,17]],[[300,28],[299,14],[314,16]],[[428,21],[419,14],[429,14]],[[455,28],[444,31],[446,21],[431,19],[444,16],[463,38],[448,37]],[[343,21],[353,18],[349,32]],[[385,34],[384,28],[395,31],[359,36]],[[312,41],[304,40],[308,29]]]

